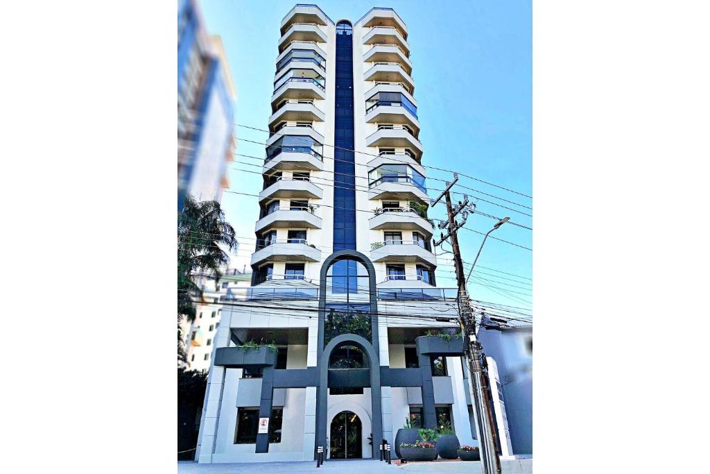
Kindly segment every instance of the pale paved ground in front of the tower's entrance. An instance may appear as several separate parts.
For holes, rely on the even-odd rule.
[[[501,461],[503,474],[532,473],[532,459]],[[405,474],[405,473],[474,473],[481,472],[477,461],[435,461],[432,463],[408,463],[402,466],[388,465],[378,460],[351,459],[329,460],[320,468],[315,461],[292,461],[277,463],[215,463],[198,464],[194,461],[178,461],[178,474],[241,474],[241,473],[327,473],[340,474]]]

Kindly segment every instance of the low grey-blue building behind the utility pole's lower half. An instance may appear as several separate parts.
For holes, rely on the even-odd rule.
[[[485,316],[478,338],[486,356],[496,361],[497,389],[503,390],[505,414],[496,413],[496,420],[507,418],[513,454],[532,454],[532,325]]]

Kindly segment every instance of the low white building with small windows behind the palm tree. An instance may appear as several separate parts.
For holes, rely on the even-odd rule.
[[[217,287],[213,278],[200,276],[197,284],[202,287],[204,294],[202,301],[195,305],[195,321],[182,323],[187,353],[184,365],[187,370],[209,370],[212,344],[222,319],[222,303],[219,303],[219,298],[226,294],[228,286],[249,286],[250,281],[251,273],[237,269],[226,269]]]

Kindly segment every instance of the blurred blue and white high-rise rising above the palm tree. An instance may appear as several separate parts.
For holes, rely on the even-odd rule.
[[[185,195],[222,200],[229,188],[234,85],[219,36],[207,36],[195,0],[178,6],[178,210]]]

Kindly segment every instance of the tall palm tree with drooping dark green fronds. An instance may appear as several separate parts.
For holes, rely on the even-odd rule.
[[[202,298],[202,288],[193,276],[208,273],[217,284],[220,269],[229,263],[229,254],[219,246],[231,250],[236,244],[234,228],[224,219],[217,201],[200,203],[191,196],[185,198],[182,212],[178,212],[178,357],[184,354],[180,322],[183,318],[195,321],[194,301]]]

